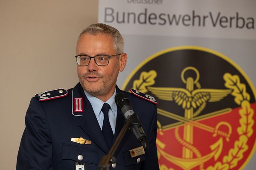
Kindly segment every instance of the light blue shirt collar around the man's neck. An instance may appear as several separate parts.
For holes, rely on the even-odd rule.
[[[101,99],[98,99],[97,97],[87,93],[85,90],[84,90],[84,94],[87,96],[87,99],[92,105],[93,111],[96,114],[96,116],[99,116],[99,113],[104,103],[108,103],[110,105],[112,113],[115,116],[116,109],[117,109],[116,102],[115,102],[116,89],[114,91],[114,94],[106,102],[103,102]]]

